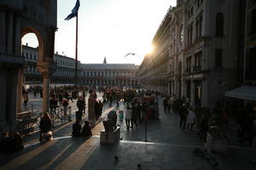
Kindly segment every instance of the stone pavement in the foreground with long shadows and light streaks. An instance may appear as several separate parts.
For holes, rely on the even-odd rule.
[[[160,100],[161,104],[161,100]],[[122,104],[119,108],[124,110]],[[164,114],[160,105],[160,119],[148,121],[147,139],[144,142],[144,123],[128,132],[125,123],[119,122],[121,136],[119,144],[99,144],[102,122],[93,128],[90,139],[71,138],[72,123],[54,131],[55,139],[44,144],[27,143],[18,153],[0,156],[0,169],[89,169],[89,170],[208,170],[218,162],[219,170],[256,169],[251,159],[256,159],[256,150],[230,146],[227,155],[207,154],[196,130],[181,130],[178,116]],[[193,153],[197,147],[203,156]],[[119,161],[115,161],[118,156]],[[213,161],[216,160],[216,161]]]

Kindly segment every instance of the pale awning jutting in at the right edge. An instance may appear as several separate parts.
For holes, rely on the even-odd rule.
[[[256,101],[256,87],[253,86],[241,86],[228,92],[225,92],[225,96],[237,99],[247,99]]]

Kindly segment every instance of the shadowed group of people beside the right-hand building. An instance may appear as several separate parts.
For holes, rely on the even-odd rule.
[[[253,138],[256,139],[256,107],[248,103],[245,109],[234,110],[229,102],[216,102],[213,111],[207,108],[192,108],[187,99],[176,99],[173,95],[165,97],[162,103],[165,113],[171,111],[180,116],[179,126],[182,129],[193,129],[196,124],[198,127],[198,136],[206,142],[207,133],[211,133],[214,127],[218,127],[223,133],[224,139],[228,139],[225,132],[230,128],[230,120],[236,123],[236,133],[241,145],[247,143],[253,145]],[[255,141],[256,142],[256,141]]]

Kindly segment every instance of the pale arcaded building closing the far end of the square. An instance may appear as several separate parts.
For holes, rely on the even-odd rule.
[[[84,86],[119,86],[137,87],[136,71],[138,65],[134,64],[82,64],[81,81]]]

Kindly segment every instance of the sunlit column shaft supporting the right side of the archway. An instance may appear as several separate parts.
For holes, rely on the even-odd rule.
[[[42,112],[49,111],[49,72],[42,72],[43,76],[43,103],[42,103]]]

